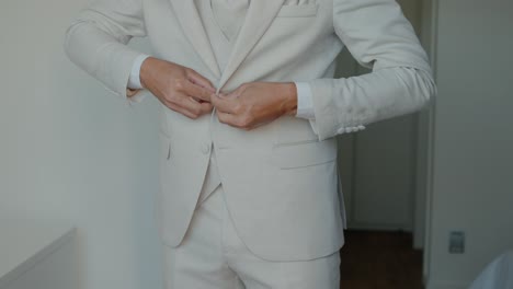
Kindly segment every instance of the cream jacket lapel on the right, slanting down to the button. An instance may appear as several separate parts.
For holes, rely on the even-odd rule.
[[[175,0],[184,1],[185,0]],[[218,86],[220,90],[269,28],[285,0],[252,0]]]

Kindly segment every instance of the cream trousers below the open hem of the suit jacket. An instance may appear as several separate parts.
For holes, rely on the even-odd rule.
[[[301,262],[252,254],[237,234],[224,195],[218,186],[198,205],[181,245],[163,246],[166,289],[340,288],[339,253]]]

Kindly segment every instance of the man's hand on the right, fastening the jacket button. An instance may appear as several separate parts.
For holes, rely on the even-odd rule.
[[[251,130],[283,115],[296,115],[297,90],[293,82],[250,82],[210,101],[220,123]]]

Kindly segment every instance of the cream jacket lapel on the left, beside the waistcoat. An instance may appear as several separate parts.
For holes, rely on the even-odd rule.
[[[200,19],[194,0],[170,0],[183,32],[194,46],[203,62],[210,69],[216,78],[220,77],[219,66],[206,35],[203,22]],[[261,0],[256,0],[261,1]]]

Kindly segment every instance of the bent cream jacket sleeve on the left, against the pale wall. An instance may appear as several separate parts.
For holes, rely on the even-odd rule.
[[[126,46],[146,35],[141,0],[96,0],[82,10],[66,32],[65,50],[77,66],[127,99],[127,83],[140,55]]]

